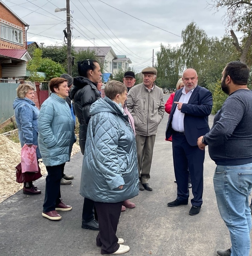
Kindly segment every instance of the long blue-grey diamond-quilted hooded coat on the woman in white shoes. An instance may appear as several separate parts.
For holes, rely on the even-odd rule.
[[[90,114],[80,194],[103,203],[135,197],[139,193],[136,140],[128,117],[107,97],[93,103]]]

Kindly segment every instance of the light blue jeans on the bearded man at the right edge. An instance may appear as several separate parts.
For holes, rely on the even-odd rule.
[[[217,166],[214,191],[220,215],[229,229],[231,256],[249,256],[252,188],[252,163],[240,166]]]

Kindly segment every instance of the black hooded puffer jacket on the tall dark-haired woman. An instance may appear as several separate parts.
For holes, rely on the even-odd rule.
[[[101,95],[96,88],[96,84],[83,76],[73,79],[73,87],[70,91],[70,98],[73,100],[75,115],[79,121],[79,144],[81,153],[84,154],[84,148],[87,136],[87,125],[90,119],[90,106]]]

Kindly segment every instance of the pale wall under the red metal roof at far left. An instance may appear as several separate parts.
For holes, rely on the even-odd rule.
[[[24,77],[26,76],[26,61],[17,62],[16,65],[2,64],[2,77]]]

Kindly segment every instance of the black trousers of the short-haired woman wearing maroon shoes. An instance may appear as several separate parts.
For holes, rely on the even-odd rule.
[[[43,204],[43,212],[54,211],[61,200],[61,170],[65,163],[58,166],[46,166],[46,192]]]

